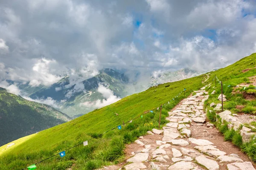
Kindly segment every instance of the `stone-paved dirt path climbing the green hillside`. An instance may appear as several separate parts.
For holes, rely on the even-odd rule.
[[[204,89],[204,88],[202,88]],[[153,129],[125,149],[125,159],[105,170],[255,170],[256,165],[216,128],[206,122],[206,91],[183,99],[166,118],[163,130]]]

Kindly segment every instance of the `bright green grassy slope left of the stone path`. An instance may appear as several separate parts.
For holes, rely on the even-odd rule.
[[[87,113],[86,115],[70,122],[43,130],[35,136],[29,137],[27,140],[25,139],[23,142],[18,143],[19,141],[17,141],[15,142],[16,144],[14,146],[9,147],[6,150],[6,146],[0,147],[0,162],[2,162],[0,166],[2,166],[2,168],[6,167],[6,169],[19,169],[36,161],[40,161],[47,156],[56,154],[57,150],[64,150],[67,147],[88,139],[90,137],[88,136],[89,133],[105,132],[106,130],[120,125],[122,121],[126,122],[134,117],[137,117],[138,115],[141,115],[144,111],[159,107],[161,104],[170,101],[170,99],[175,97],[178,93],[180,93],[180,91],[183,91],[183,88],[185,87],[187,90],[186,95],[189,95],[193,90],[198,90],[203,86],[201,81],[204,78],[205,76],[202,75],[191,79],[185,79],[178,82],[166,83],[164,85],[152,87],[147,91],[127,96],[120,101],[113,103],[112,105]],[[170,86],[166,88],[166,85]],[[182,98],[181,96],[179,99],[175,100],[175,102],[172,102],[169,106],[166,106],[169,108],[174,107]],[[116,116],[115,112],[118,113],[119,116]],[[168,114],[167,111],[165,112]],[[146,132],[146,130],[149,130],[152,127],[157,127],[157,119],[159,119],[159,116],[154,115],[154,113],[152,114],[145,116],[145,119],[143,117],[143,121],[137,123],[134,121],[131,124],[132,127],[130,129],[126,129],[128,128],[127,126],[122,131],[110,132],[109,134],[103,136],[102,139],[92,140],[94,146],[91,146],[93,148],[89,153],[93,154],[94,159],[101,162],[94,162],[93,165],[97,164],[99,167],[99,164],[107,164],[109,161],[117,160],[112,159],[112,157],[122,157],[122,154],[116,154],[116,151],[113,150],[113,156],[109,156],[112,151],[105,153],[105,150],[111,150],[111,144],[116,146],[116,144],[114,144],[115,140],[120,141],[119,138],[121,138],[121,143],[132,142],[135,140],[135,137],[142,135]],[[149,122],[152,123],[152,127],[145,127],[144,123],[147,124]],[[161,123],[166,123],[164,115],[163,119],[161,119]],[[110,148],[108,148],[109,146]],[[119,148],[117,150],[122,150],[123,147],[124,146],[122,145],[122,147],[120,147],[121,149]],[[115,147],[112,147],[112,149],[113,148]],[[53,160],[50,159],[49,161],[41,163],[40,169],[51,169],[51,166],[57,166],[58,164],[61,164],[59,166],[63,165],[64,167],[70,167],[70,164],[73,163],[75,163],[75,169],[93,169],[91,168],[91,165],[88,165],[91,162],[88,160],[89,158],[87,156],[85,156],[82,161],[80,160],[81,154],[79,154],[79,150],[74,148],[73,150],[70,150],[70,152],[70,158],[67,156],[67,160],[61,160],[64,165],[60,163],[59,158],[54,158]],[[105,163],[102,163],[102,161]],[[12,162],[12,164],[9,164],[9,162]],[[96,167],[97,166],[95,165],[95,168]]]

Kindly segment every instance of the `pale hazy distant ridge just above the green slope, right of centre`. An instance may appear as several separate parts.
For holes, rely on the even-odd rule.
[[[166,82],[176,82],[182,79],[188,79],[201,74],[205,74],[207,72],[209,71],[199,71],[191,68],[183,68],[175,72],[171,72],[171,71],[162,72],[160,74],[157,74],[151,77],[151,81],[148,87],[163,84]]]

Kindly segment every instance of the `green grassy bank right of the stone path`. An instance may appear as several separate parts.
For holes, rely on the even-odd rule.
[[[251,54],[248,57],[245,57],[238,62],[234,63],[233,65],[230,65],[226,68],[222,68],[218,71],[212,72],[211,77],[209,78],[209,82],[212,82],[212,79],[214,78],[215,74],[218,77],[220,81],[223,81],[223,93],[227,97],[227,102],[223,102],[224,110],[230,110],[232,113],[239,113],[244,112],[247,114],[255,115],[256,110],[256,100],[246,100],[244,99],[244,94],[252,93],[252,91],[255,91],[254,86],[250,86],[249,88],[238,88],[237,90],[240,91],[239,93],[232,94],[232,91],[234,90],[234,86],[240,85],[241,83],[247,83],[249,82],[248,77],[253,77],[256,75],[256,53]],[[244,72],[245,69],[249,69],[248,71]],[[215,83],[214,83],[215,85]],[[212,85],[211,87],[213,87]],[[227,87],[228,85],[231,85],[231,87]],[[205,103],[208,107],[208,110],[210,109],[209,104],[212,102],[215,103],[221,103],[221,101],[218,101],[218,95],[221,94],[221,85],[218,84],[216,88],[208,88],[209,94],[215,90],[216,94],[210,95],[208,101]],[[253,92],[254,95],[256,95],[256,92]],[[244,105],[245,108],[242,111],[239,111],[236,109],[236,105]],[[250,109],[249,109],[250,108]],[[212,109],[212,108],[211,108]],[[224,134],[224,139],[227,141],[232,141],[233,144],[240,147],[244,153],[247,153],[250,158],[256,162],[256,140],[251,140],[248,143],[243,144],[242,138],[240,136],[239,130],[228,130],[227,123],[221,124],[221,121],[219,119],[218,122],[215,122],[216,115],[215,112],[207,113],[207,117],[210,121],[215,123],[216,127],[221,131],[221,133]],[[251,125],[244,123],[245,126],[250,127],[251,125],[256,125],[256,122],[251,123]],[[255,130],[253,130],[255,131]]]

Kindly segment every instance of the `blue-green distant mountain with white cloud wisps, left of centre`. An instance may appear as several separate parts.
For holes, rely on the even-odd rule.
[[[110,89],[116,98],[123,98],[129,94],[128,84],[129,79],[125,74],[107,68],[99,71],[98,75],[90,79],[80,79],[74,82],[69,76],[66,76],[50,87],[42,85],[31,87],[28,84],[21,84],[19,88],[26,92],[31,99],[44,100],[50,97],[58,102],[59,108],[56,109],[68,116],[77,117],[99,108],[95,105],[96,101],[101,103],[103,100],[108,100],[102,92],[98,91],[99,85]],[[83,103],[87,103],[87,105]]]

